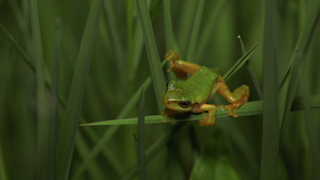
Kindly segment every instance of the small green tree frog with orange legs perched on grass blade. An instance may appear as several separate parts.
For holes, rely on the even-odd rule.
[[[217,107],[227,109],[229,116],[238,117],[238,108],[249,98],[250,90],[247,85],[242,85],[230,92],[218,68],[211,69],[179,60],[179,54],[174,50],[168,51],[165,58],[170,61],[171,65],[168,72],[174,72],[179,79],[186,79],[187,73],[192,76],[183,82],[172,80],[167,84],[166,92],[162,96],[162,102],[166,107],[161,112],[164,116],[163,123],[166,123],[168,116],[173,117],[174,114],[191,111],[193,113],[202,112],[203,119],[199,120],[200,126],[211,126],[216,121]],[[217,92],[231,104],[206,104]],[[208,111],[208,116],[204,113],[205,111]]]

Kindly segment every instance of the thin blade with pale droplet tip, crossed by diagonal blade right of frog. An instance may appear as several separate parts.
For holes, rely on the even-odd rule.
[[[241,44],[242,55],[245,55],[247,50],[246,50],[246,48],[245,48],[245,46],[243,44],[241,36],[239,35],[238,37],[239,37],[240,44]],[[258,79],[257,79],[256,75],[253,72],[253,69],[252,69],[252,66],[251,66],[251,63],[250,63],[249,60],[246,62],[246,67],[247,67],[247,71],[249,73],[250,80],[251,80],[251,82],[253,84],[254,90],[257,93],[258,98],[261,100],[262,99],[262,90],[261,90],[260,84],[258,82]]]

